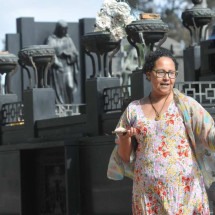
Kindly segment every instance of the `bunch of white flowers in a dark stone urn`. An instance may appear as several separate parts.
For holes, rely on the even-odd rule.
[[[113,41],[126,37],[125,26],[136,20],[131,15],[131,8],[126,2],[104,0],[96,16],[96,31],[109,31]]]

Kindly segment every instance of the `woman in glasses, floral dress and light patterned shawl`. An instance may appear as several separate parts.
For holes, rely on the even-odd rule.
[[[143,68],[151,92],[128,105],[115,130],[108,177],[133,178],[134,215],[210,214],[206,186],[213,178],[204,162],[213,157],[204,152],[214,150],[214,121],[193,98],[173,89],[177,68],[170,51],[151,52]]]

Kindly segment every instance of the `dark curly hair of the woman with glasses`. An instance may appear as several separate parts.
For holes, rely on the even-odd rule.
[[[155,62],[160,58],[160,57],[169,57],[173,60],[174,64],[175,64],[175,68],[176,70],[178,69],[178,63],[175,59],[175,57],[173,56],[172,52],[168,49],[165,48],[159,48],[155,51],[151,51],[145,58],[145,62],[143,65],[143,73],[146,72],[151,72],[155,66]]]

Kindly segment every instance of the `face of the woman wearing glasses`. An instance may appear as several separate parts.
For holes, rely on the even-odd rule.
[[[170,73],[167,74],[165,72]],[[172,91],[175,84],[175,78],[170,78],[169,75],[174,77],[174,72],[176,72],[175,64],[171,58],[158,58],[155,62],[153,71],[146,73],[148,79],[151,81],[152,93],[154,95],[165,96]]]

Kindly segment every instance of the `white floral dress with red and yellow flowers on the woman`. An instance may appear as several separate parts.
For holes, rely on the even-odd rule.
[[[133,215],[209,215],[203,176],[175,102],[159,121],[145,117],[140,102],[132,102],[118,124],[139,131]]]

